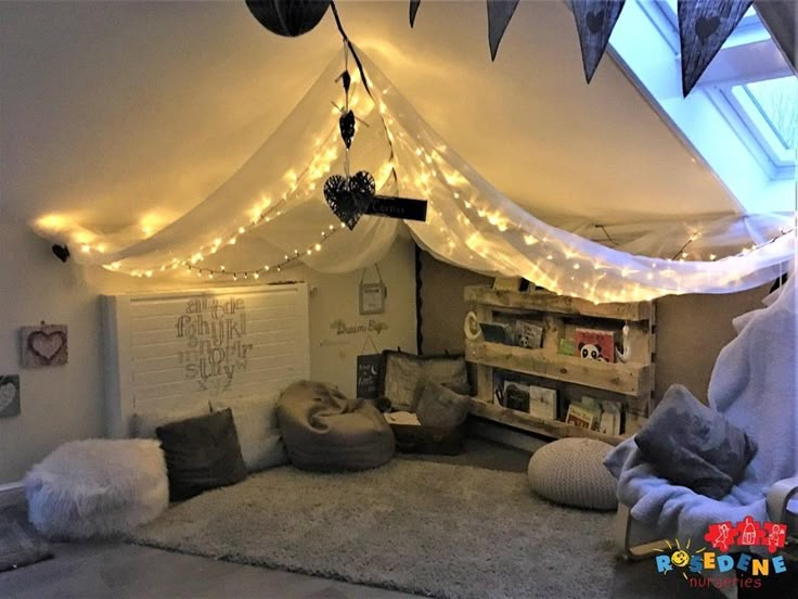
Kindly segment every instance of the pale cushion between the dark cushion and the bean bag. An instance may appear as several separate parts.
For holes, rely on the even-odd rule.
[[[248,472],[288,462],[278,424],[278,397],[230,397],[211,399],[215,411],[230,408],[239,433],[241,455]]]

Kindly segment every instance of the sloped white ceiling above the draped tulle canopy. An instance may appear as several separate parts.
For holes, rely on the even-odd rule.
[[[533,214],[735,209],[609,56],[585,85],[563,2],[523,2],[495,63],[481,1],[424,0],[415,29],[407,1],[338,8],[428,123]],[[243,1],[0,4],[4,217],[159,227],[232,174],[339,48],[330,13],[288,39]]]

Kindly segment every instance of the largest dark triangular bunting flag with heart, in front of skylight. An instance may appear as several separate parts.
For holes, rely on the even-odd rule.
[[[686,98],[754,0],[678,0]]]

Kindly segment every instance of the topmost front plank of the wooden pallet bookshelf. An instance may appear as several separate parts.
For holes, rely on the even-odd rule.
[[[651,302],[593,304],[585,300],[557,295],[548,291],[497,291],[488,285],[466,286],[464,296],[466,302],[487,304],[500,308],[539,310],[630,321],[649,320],[652,318]]]

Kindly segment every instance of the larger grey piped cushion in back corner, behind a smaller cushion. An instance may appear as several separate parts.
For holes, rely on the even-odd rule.
[[[396,410],[415,411],[427,381],[458,393],[468,393],[468,370],[463,356],[416,356],[383,352],[383,395]]]

